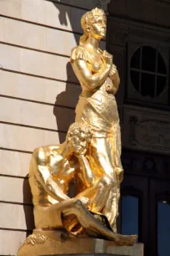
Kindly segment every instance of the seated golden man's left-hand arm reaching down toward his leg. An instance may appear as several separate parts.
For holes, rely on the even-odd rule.
[[[57,183],[52,180],[52,175],[47,162],[47,149],[44,147],[33,151],[33,166],[34,174],[37,180],[42,184],[46,192],[57,201],[70,199],[62,192],[62,189],[57,186]]]

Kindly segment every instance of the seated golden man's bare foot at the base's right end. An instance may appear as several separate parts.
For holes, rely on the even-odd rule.
[[[137,242],[137,235],[122,235],[120,233],[114,234],[114,242],[120,246],[133,246]]]

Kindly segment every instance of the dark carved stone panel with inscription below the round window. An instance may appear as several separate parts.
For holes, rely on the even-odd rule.
[[[170,115],[166,111],[124,105],[123,146],[169,155]]]

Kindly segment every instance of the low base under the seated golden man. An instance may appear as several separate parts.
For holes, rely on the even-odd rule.
[[[39,232],[34,230],[23,246],[18,250],[18,256],[58,255],[84,253],[91,255],[107,253],[127,256],[143,256],[143,243],[133,246],[117,246],[112,241],[89,237],[67,237],[67,233],[53,231]]]

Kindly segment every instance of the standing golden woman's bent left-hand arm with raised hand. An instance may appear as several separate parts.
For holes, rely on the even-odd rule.
[[[88,90],[93,90],[102,85],[108,77],[112,67],[112,55],[103,53],[106,65],[97,74],[92,74],[87,66],[87,62],[83,59],[75,59],[72,61],[72,68],[81,84],[84,84]]]

